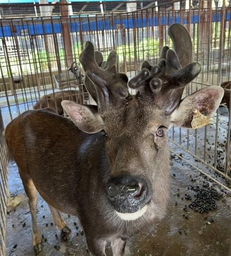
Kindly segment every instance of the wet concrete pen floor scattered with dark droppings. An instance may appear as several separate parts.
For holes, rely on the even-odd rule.
[[[220,117],[220,142],[223,143],[225,132],[227,129],[227,113]],[[208,147],[211,149],[206,155],[206,159],[213,159],[211,151],[214,150],[212,141],[214,139],[213,125],[208,126]],[[178,131],[176,130],[176,137]],[[182,132],[182,142],[188,136],[186,130]],[[190,148],[195,148],[194,140],[198,139],[198,155],[203,153],[204,130],[198,130],[197,134],[190,131]],[[222,145],[218,146],[221,149]],[[177,148],[174,148],[177,151]],[[221,150],[224,150],[222,148]],[[188,155],[184,155],[185,160],[190,160]],[[222,157],[222,155],[220,156]],[[211,160],[212,161],[212,160]],[[196,162],[195,164],[199,164]],[[215,174],[213,171],[205,168],[208,173],[212,174],[217,180],[224,182],[230,186],[229,182]],[[231,196],[225,190],[221,189],[215,183],[209,181],[203,175],[200,175],[196,169],[193,169],[188,163],[173,157],[171,160],[171,198],[168,206],[166,217],[149,227],[149,229],[141,231],[128,241],[125,255],[138,256],[230,256],[231,255]],[[213,186],[222,197],[216,201],[217,210],[208,212],[207,214],[199,214],[191,210],[184,211],[185,205],[190,204],[190,200],[185,199],[185,193],[192,197],[195,191],[191,186],[199,186],[204,184]],[[189,189],[188,189],[189,188]],[[9,208],[7,218],[7,253],[8,255],[34,255],[31,237],[31,217],[27,197],[24,193],[20,176],[17,172],[17,166],[11,164],[9,171],[9,190],[18,206]],[[179,196],[178,196],[179,194]],[[43,218],[45,216],[45,218]],[[38,224],[43,235],[43,252],[39,254],[46,256],[59,255],[90,255],[88,252],[85,236],[81,235],[82,230],[78,220],[74,216],[63,214],[72,233],[68,241],[60,239],[60,231],[57,227],[51,225],[53,222],[47,204],[39,197],[38,201]],[[187,216],[187,217],[185,217]],[[212,218],[213,221],[209,221]],[[74,222],[77,223],[78,229]],[[26,223],[26,225],[23,224]],[[48,224],[46,226],[46,224]],[[14,225],[14,227],[13,227]],[[78,235],[77,235],[78,232]],[[58,238],[55,236],[58,235]],[[107,255],[112,255],[110,247],[107,248]]]

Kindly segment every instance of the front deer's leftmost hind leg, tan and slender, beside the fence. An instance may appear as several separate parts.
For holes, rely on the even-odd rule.
[[[29,198],[30,214],[32,216],[32,240],[33,240],[34,251],[36,254],[38,254],[42,251],[42,243],[40,238],[39,227],[37,224],[37,214],[36,214],[37,190],[29,174],[23,173],[21,170],[19,170],[19,173],[22,179],[24,190],[26,191],[26,194]]]

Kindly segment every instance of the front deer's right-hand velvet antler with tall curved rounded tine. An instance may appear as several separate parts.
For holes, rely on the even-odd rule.
[[[176,52],[164,46],[157,65],[152,66],[145,61],[140,73],[128,85],[141,93],[152,93],[155,103],[163,107],[166,114],[171,114],[179,105],[186,84],[201,71],[201,65],[191,63],[192,42],[182,25],[170,26],[168,35]]]

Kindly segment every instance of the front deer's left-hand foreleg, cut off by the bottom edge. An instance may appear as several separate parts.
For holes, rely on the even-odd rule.
[[[94,256],[107,256],[105,254],[106,241],[102,239],[94,239],[92,236],[88,237],[86,234],[86,243],[88,244],[90,252]]]

